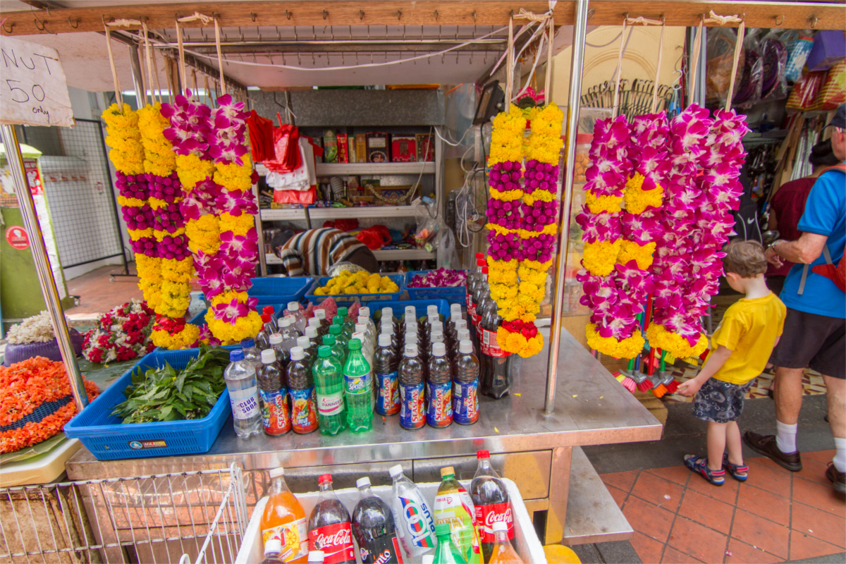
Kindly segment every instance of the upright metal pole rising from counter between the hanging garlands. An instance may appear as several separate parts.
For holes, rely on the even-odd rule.
[[[576,134],[579,133],[579,106],[582,69],[585,66],[585,31],[587,30],[588,0],[577,0],[573,31],[573,60],[570,64],[570,97],[567,105],[567,160],[564,169],[564,200],[558,217],[558,255],[555,257],[555,293],[552,297],[552,328],[549,336],[547,363],[547,397],[543,413],[555,411],[555,384],[558,376],[558,348],[561,343],[561,313],[564,303],[564,270],[567,268],[567,247],[570,232],[570,206],[573,204],[574,165],[576,162]]]

